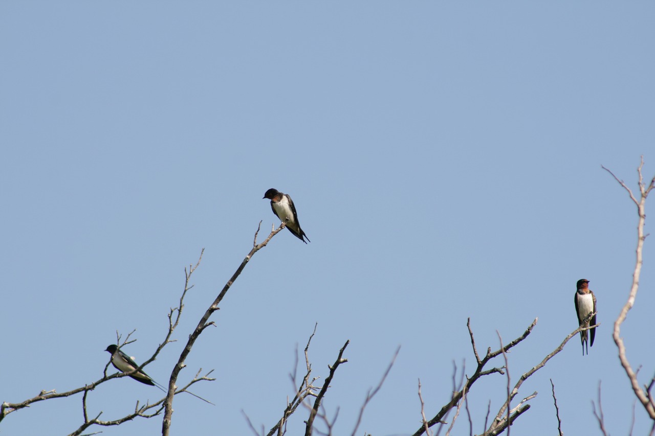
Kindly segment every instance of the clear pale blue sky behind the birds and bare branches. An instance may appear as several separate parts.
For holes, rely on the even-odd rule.
[[[627,434],[634,395],[611,330],[637,213],[601,164],[634,189],[641,154],[655,173],[654,20],[646,1],[2,2],[0,401],[97,380],[116,331],[136,329],[125,351],[149,357],[204,247],[179,342],[147,367],[165,383],[257,223],[278,225],[261,199],[273,187],[311,242],[284,230],[253,257],[181,373],[215,369],[193,391],[216,406],[176,397],[173,434],[252,434],[242,410],[271,428],[315,323],[316,376],[350,340],[324,401],[339,407],[335,434],[350,434],[399,345],[358,435],[411,434],[417,380],[432,417],[453,361],[474,371],[468,317],[481,353],[539,318],[508,355],[514,383],[576,328],[580,278],[597,295],[596,342],[583,357],[573,338],[523,384],[519,397],[538,396],[512,434],[557,433],[549,378],[565,434],[600,433],[601,381],[607,429]],[[623,329],[642,383],[655,371],[653,244]],[[505,389],[500,375],[474,386],[476,433]],[[116,419],[159,395],[112,380],[89,413]],[[77,395],[14,412],[0,433],[81,421]]]

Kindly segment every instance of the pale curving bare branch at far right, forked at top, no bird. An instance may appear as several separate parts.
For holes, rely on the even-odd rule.
[[[632,274],[632,286],[630,288],[630,293],[627,297],[626,304],[624,304],[620,314],[618,315],[618,318],[616,318],[616,321],[614,321],[614,333],[612,334],[612,337],[614,338],[614,343],[618,348],[618,358],[621,361],[621,366],[623,367],[624,371],[626,371],[626,375],[630,380],[632,390],[634,391],[641,405],[643,405],[644,409],[646,409],[650,419],[655,421],[655,400],[653,395],[650,392],[650,388],[648,386],[645,388],[641,388],[641,386],[639,386],[637,373],[632,369],[629,361],[627,360],[626,346],[623,342],[623,338],[621,338],[621,325],[626,320],[627,312],[629,312],[629,310],[634,306],[635,299],[637,298],[637,291],[639,290],[639,276],[641,276],[641,266],[643,264],[643,246],[644,241],[646,240],[646,236],[648,236],[647,234],[644,234],[644,224],[646,222],[646,198],[648,197],[648,193],[650,193],[653,187],[655,187],[655,177],[650,180],[650,183],[644,183],[643,173],[641,172],[643,166],[644,156],[641,156],[641,163],[637,168],[637,174],[639,175],[639,200],[637,200],[631,189],[627,187],[624,181],[619,180],[618,177],[614,175],[614,173],[612,173],[604,166],[601,166],[601,168],[610,173],[612,177],[614,177],[614,179],[622,187],[624,187],[632,202],[635,204],[635,206],[637,206],[637,213],[639,214],[639,221],[637,223],[637,259],[635,261],[635,269]]]

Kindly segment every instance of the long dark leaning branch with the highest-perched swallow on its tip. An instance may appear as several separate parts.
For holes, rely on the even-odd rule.
[[[173,371],[170,374],[170,378],[168,380],[168,394],[166,395],[166,401],[164,401],[164,419],[162,422],[162,436],[168,436],[170,434],[170,423],[171,423],[171,418],[173,414],[173,395],[176,390],[176,382],[178,381],[178,376],[179,372],[186,366],[185,365],[185,360],[187,359],[187,356],[191,352],[191,348],[193,348],[193,344],[195,344],[196,339],[198,339],[198,336],[210,325],[214,325],[214,322],[209,322],[210,316],[219,309],[218,304],[223,300],[223,297],[225,297],[225,294],[227,291],[230,289],[230,287],[233,285],[234,281],[238,278],[238,276],[241,274],[241,272],[246,268],[246,264],[248,264],[248,261],[252,258],[252,256],[257,253],[260,249],[265,247],[271,238],[278,234],[280,230],[282,230],[285,227],[285,224],[282,223],[280,227],[276,228],[275,230],[271,231],[271,234],[269,234],[268,238],[264,240],[261,244],[257,244],[257,234],[259,234],[259,228],[261,228],[261,221],[259,221],[259,226],[257,226],[257,231],[255,232],[255,238],[253,240],[253,247],[250,250],[250,253],[246,255],[244,260],[241,262],[241,264],[236,268],[236,271],[230,278],[230,280],[225,283],[225,286],[223,286],[223,289],[219,293],[218,297],[212,302],[212,304],[209,306],[209,308],[206,310],[202,318],[200,318],[200,321],[198,322],[198,325],[196,326],[195,330],[191,335],[189,335],[189,340],[187,341],[186,346],[182,350],[181,354],[179,355],[178,362],[176,365],[173,367]]]

